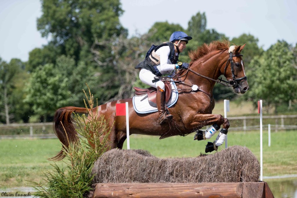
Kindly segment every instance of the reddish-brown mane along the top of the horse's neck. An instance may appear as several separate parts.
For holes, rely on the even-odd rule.
[[[228,50],[229,49],[230,42],[219,42],[219,41],[213,41],[210,44],[204,43],[201,47],[198,47],[197,50],[190,51],[189,57],[191,58],[191,61],[194,62],[198,60],[199,58],[205,56],[208,53],[211,53],[213,51],[217,50]]]

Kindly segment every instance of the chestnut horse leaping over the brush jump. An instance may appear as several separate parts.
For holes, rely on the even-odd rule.
[[[105,119],[108,120],[108,126],[111,127],[108,137],[110,149],[121,149],[127,138],[126,118],[125,116],[116,116],[117,103],[128,102],[129,104],[130,134],[158,135],[162,139],[175,135],[183,136],[196,132],[203,126],[213,124],[222,125],[225,132],[228,132],[228,119],[223,118],[222,115],[211,114],[214,109],[212,94],[214,85],[215,83],[221,83],[229,87],[232,86],[237,94],[244,94],[249,89],[244,73],[242,55],[240,54],[245,44],[238,47],[229,47],[229,45],[227,42],[212,42],[209,45],[204,44],[196,51],[189,53],[191,62],[188,69],[178,70],[175,77],[173,77],[179,90],[179,96],[176,104],[169,108],[170,113],[173,115],[171,123],[160,125],[158,123],[158,112],[136,113],[133,108],[132,98],[108,102],[94,108],[93,112],[98,111],[98,116],[104,115]],[[220,75],[224,75],[228,81],[218,80]],[[225,83],[222,83],[222,81]],[[66,147],[68,146],[67,137],[69,142],[78,140],[71,119],[73,112],[88,113],[86,108],[62,107],[56,110],[54,116],[55,133]],[[65,127],[67,136],[62,125]],[[205,139],[205,136],[203,137]],[[60,151],[52,159],[60,160],[63,158],[64,153]]]

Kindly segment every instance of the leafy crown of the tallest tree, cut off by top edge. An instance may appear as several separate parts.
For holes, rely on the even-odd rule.
[[[91,57],[90,48],[96,39],[104,42],[114,34],[127,32],[119,22],[123,13],[119,0],[42,0],[41,3],[42,16],[37,20],[37,29],[43,37],[51,36],[55,45],[62,47],[63,54],[73,56],[75,61]]]

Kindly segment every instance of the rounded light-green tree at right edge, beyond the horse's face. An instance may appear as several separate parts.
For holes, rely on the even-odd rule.
[[[292,47],[285,41],[277,41],[262,56],[255,57],[247,71],[249,99],[263,99],[278,112],[280,104],[296,99],[297,70],[294,68]]]

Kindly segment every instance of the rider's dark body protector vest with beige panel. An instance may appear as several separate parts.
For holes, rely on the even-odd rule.
[[[152,45],[149,51],[146,53],[146,58],[144,61],[140,62],[135,69],[145,68],[151,71],[156,76],[161,76],[162,74],[157,69],[157,65],[160,64],[160,56],[156,53],[156,51],[163,46],[168,45],[170,47],[170,53],[168,59],[170,60],[171,64],[176,64],[178,61],[178,55],[175,55],[174,45],[172,42],[166,42],[161,45]],[[179,54],[179,53],[178,53]]]

